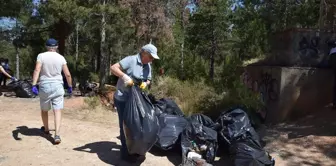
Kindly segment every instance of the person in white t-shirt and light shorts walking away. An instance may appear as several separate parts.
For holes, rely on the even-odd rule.
[[[49,133],[48,111],[52,108],[55,116],[55,144],[61,143],[61,110],[64,107],[64,88],[63,71],[67,82],[72,82],[71,74],[65,58],[57,53],[58,43],[55,39],[48,39],[46,42],[47,52],[40,53],[37,56],[35,70],[33,74],[32,91],[40,96],[41,117],[43,126],[41,131],[44,134]],[[39,89],[37,89],[37,80]],[[72,93],[71,84],[68,87],[68,93]]]

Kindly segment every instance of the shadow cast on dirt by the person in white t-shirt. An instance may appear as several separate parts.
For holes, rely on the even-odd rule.
[[[19,134],[25,136],[40,136],[48,140],[50,143],[54,144],[54,139],[51,135],[46,135],[41,132],[38,128],[28,128],[27,126],[18,126],[15,130],[12,131],[12,136],[15,140],[21,141],[22,138],[19,137]]]

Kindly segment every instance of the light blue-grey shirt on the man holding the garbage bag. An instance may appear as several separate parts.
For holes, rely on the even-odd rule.
[[[152,79],[152,69],[150,64],[142,64],[140,54],[127,56],[119,62],[122,71],[130,76],[135,84]],[[126,87],[122,79],[118,79],[115,99],[126,101],[130,93],[130,88]]]

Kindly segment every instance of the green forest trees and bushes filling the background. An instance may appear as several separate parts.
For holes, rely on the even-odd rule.
[[[45,40],[50,37],[65,39],[64,56],[72,76],[95,82],[102,79],[98,76],[104,66],[101,59],[104,64],[114,64],[138,53],[144,43],[152,40],[160,60],[152,64],[151,91],[157,97],[174,98],[187,114],[218,114],[242,104],[258,110],[259,96],[240,81],[242,61],[266,56],[270,52],[269,39],[276,31],[317,27],[319,13],[313,0],[201,1],[193,15],[185,10],[186,0],[153,0],[150,4],[131,0],[106,0],[106,4],[94,0],[48,0],[35,6],[37,15],[31,14],[32,1],[0,2],[1,16],[18,23],[1,29],[1,57],[9,58],[11,69],[15,69],[13,43],[25,45],[19,49],[23,77],[32,76],[36,56],[45,51]],[[101,49],[103,14],[106,50]],[[63,24],[59,24],[60,20]],[[102,58],[102,50],[107,57]],[[164,77],[159,77],[160,69],[164,69]],[[117,81],[115,76],[107,78],[107,83],[113,85]],[[86,102],[95,107],[98,99]]]

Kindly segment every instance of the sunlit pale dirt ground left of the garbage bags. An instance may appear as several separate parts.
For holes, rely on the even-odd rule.
[[[0,165],[127,165],[119,160],[117,121],[107,121],[116,119],[116,114],[101,111],[96,113],[96,117],[88,117],[88,113],[84,112],[77,114],[76,117],[71,111],[77,107],[78,100],[66,101],[68,109],[64,111],[61,129],[63,142],[55,146],[40,136],[38,99],[0,97]],[[91,122],[78,119],[88,119]],[[52,113],[49,116],[49,123],[53,126]],[[148,153],[141,165],[174,164],[166,157]]]

